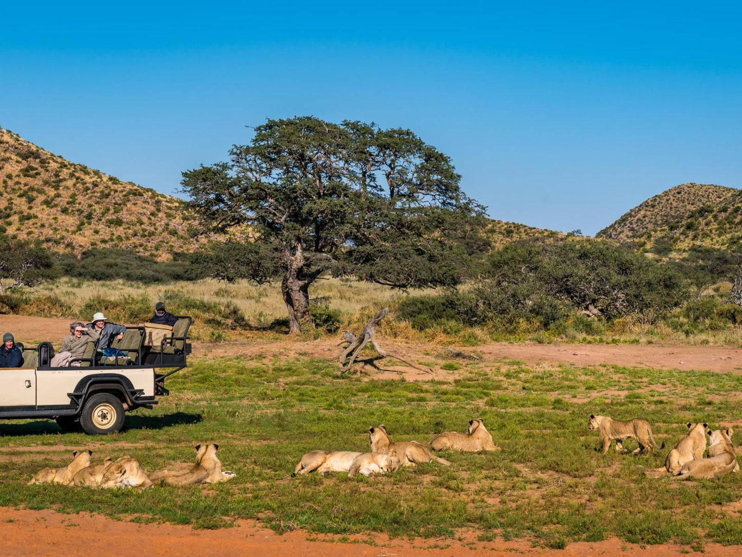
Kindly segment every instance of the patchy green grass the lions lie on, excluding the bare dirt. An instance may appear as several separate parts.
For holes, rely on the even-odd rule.
[[[638,544],[742,544],[742,521],[725,504],[742,499],[742,475],[690,483],[648,478],[666,451],[603,456],[588,414],[645,417],[669,447],[687,421],[742,420],[742,377],[703,371],[597,366],[529,368],[522,362],[456,363],[459,379],[407,382],[339,376],[324,359],[197,359],[171,377],[171,397],[127,418],[110,437],[59,434],[50,421],[0,423],[0,506],[92,511],[197,528],[257,518],[283,532],[456,538],[526,538],[548,547],[617,536]],[[453,366],[449,366],[453,367]],[[482,417],[502,452],[447,454],[379,478],[290,478],[311,449],[368,450],[367,428],[427,443]],[[220,444],[229,483],[94,491],[26,486],[33,472],[61,466],[70,448],[96,462],[128,453],[152,471],[189,461],[196,443]],[[42,450],[24,452],[26,446]],[[43,447],[47,450],[43,450]],[[635,442],[625,446],[633,449]]]

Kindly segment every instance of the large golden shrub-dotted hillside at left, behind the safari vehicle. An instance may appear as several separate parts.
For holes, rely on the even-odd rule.
[[[0,232],[39,238],[55,251],[116,246],[163,260],[198,245],[183,201],[70,163],[2,128],[0,180]]]

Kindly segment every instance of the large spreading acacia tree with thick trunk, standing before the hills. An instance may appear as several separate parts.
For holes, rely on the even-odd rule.
[[[246,278],[281,276],[292,333],[321,276],[393,287],[454,285],[487,246],[484,208],[450,158],[412,131],[315,117],[267,120],[229,162],[183,172],[212,229],[249,229]]]

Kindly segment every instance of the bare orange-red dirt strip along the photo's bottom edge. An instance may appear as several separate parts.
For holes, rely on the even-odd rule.
[[[476,549],[447,540],[390,540],[378,535],[376,545],[333,542],[329,536],[307,541],[303,532],[277,535],[253,521],[239,521],[234,528],[193,530],[171,524],[134,524],[81,513],[62,515],[51,510],[30,511],[0,508],[0,547],[4,557],[15,556],[286,556],[286,557],[475,557],[475,556],[677,556],[675,544],[642,549],[616,539],[570,544],[565,550],[533,548],[524,542],[476,542]],[[315,537],[317,538],[317,537]],[[445,549],[426,548],[440,544]],[[738,547],[706,544],[706,555],[732,557]]]

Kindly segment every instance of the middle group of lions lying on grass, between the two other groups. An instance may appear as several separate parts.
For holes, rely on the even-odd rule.
[[[295,466],[295,475],[306,475],[315,470],[321,475],[329,472],[348,472],[348,478],[361,474],[367,478],[376,474],[395,472],[401,466],[415,466],[416,463],[437,462],[450,466],[450,461],[433,455],[432,451],[450,449],[452,451],[479,452],[498,451],[492,442],[492,435],[485,428],[482,418],[469,420],[467,433],[446,431],[436,435],[429,446],[417,441],[394,443],[389,438],[386,426],[369,428],[371,452],[351,451],[309,451]],[[431,450],[432,449],[432,450]]]

